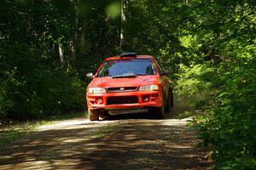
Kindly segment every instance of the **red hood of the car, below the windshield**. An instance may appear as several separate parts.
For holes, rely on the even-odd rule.
[[[109,87],[138,87],[142,85],[158,84],[157,76],[138,76],[125,78],[96,77],[90,83],[91,87],[109,88]]]

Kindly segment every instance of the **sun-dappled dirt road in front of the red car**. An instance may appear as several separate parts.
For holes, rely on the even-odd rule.
[[[123,116],[43,126],[0,148],[0,169],[211,169],[187,121]]]

